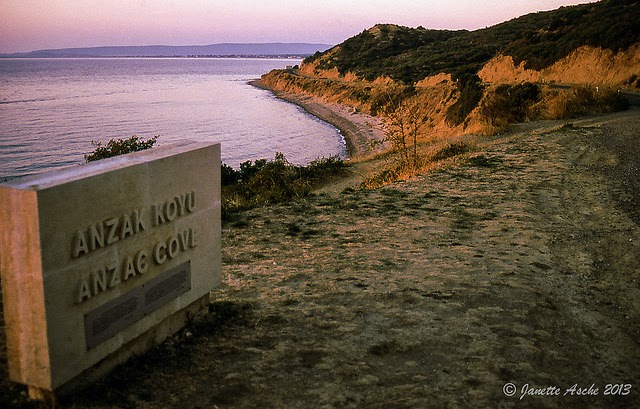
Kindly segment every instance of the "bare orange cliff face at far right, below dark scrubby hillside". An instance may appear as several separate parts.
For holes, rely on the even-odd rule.
[[[478,73],[485,82],[557,82],[620,87],[633,75],[640,76],[640,45],[614,53],[601,48],[580,47],[541,71],[516,66],[510,56],[499,55]]]

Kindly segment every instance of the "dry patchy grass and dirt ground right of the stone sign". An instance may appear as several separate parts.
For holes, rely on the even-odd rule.
[[[411,182],[242,213],[206,320],[62,407],[637,407],[639,130],[526,125]]]

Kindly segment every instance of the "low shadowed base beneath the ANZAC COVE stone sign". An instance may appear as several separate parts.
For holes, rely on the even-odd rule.
[[[124,364],[129,358],[141,355],[153,346],[162,343],[168,337],[184,328],[189,321],[207,314],[209,312],[209,302],[209,294],[194,301],[188,307],[167,317],[156,327],[151,328],[149,331],[129,341],[122,348],[105,357],[102,361],[85,370],[75,379],[72,379],[55,391],[38,388],[36,386],[28,386],[29,399],[44,401],[48,404],[48,407],[55,407],[56,397],[70,395],[86,388],[107,376],[116,367]]]

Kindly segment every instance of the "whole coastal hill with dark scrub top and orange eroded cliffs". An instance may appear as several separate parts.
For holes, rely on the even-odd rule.
[[[294,102],[338,104],[382,122],[392,160],[366,183],[377,186],[429,169],[433,146],[447,138],[637,104],[640,2],[563,7],[476,31],[378,24],[261,83]],[[379,156],[380,141],[368,142],[359,159]]]

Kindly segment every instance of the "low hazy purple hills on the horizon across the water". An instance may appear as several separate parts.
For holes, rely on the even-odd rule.
[[[299,56],[305,57],[325,51],[328,44],[309,43],[224,43],[198,46],[113,46],[38,50],[28,53],[5,54],[2,57],[19,58],[73,58],[73,57],[187,57],[187,56]]]

